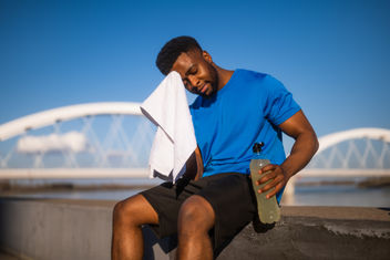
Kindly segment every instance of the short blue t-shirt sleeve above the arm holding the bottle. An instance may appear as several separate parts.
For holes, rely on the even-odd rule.
[[[264,112],[274,125],[280,125],[300,111],[300,106],[292,98],[292,94],[275,77],[267,75],[264,87],[267,94]]]

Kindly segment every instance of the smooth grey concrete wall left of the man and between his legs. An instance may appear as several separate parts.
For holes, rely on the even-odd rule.
[[[113,206],[114,201],[0,199],[0,247],[21,259],[110,259]],[[168,239],[157,241],[150,229],[144,236],[145,259],[168,259],[163,251],[170,248]]]

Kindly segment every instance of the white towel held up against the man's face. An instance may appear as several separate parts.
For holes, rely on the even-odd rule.
[[[151,178],[163,175],[175,183],[196,148],[184,89],[181,75],[173,71],[141,105],[142,113],[157,126],[148,160]]]

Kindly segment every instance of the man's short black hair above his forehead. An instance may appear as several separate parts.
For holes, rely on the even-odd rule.
[[[178,55],[183,52],[188,52],[192,50],[202,51],[199,43],[197,43],[194,38],[177,37],[172,39],[165,43],[157,55],[156,65],[158,70],[164,75],[168,74]]]

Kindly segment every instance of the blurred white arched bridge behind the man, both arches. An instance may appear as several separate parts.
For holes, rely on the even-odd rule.
[[[138,103],[89,103],[0,125],[0,179],[147,177],[155,126]],[[390,176],[390,131],[319,138],[305,176]]]

